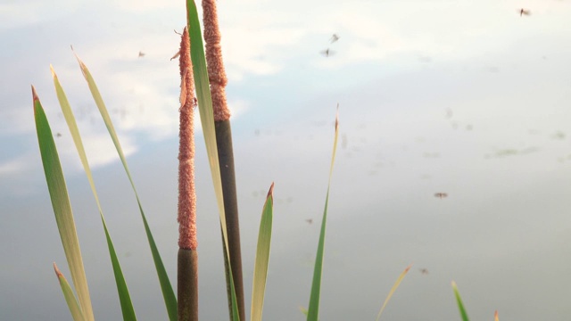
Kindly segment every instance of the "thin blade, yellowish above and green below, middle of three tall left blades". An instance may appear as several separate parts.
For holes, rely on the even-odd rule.
[[[103,210],[101,208],[101,203],[99,202],[99,196],[97,196],[97,191],[95,190],[93,175],[91,173],[91,169],[89,168],[89,162],[87,161],[87,155],[83,147],[83,142],[81,141],[81,136],[79,135],[78,125],[75,121],[75,117],[73,116],[73,111],[71,111],[70,102],[68,101],[68,98],[63,91],[62,85],[60,84],[60,80],[57,78],[57,75],[55,74],[54,68],[52,66],[50,66],[50,70],[52,70],[52,78],[54,78],[55,93],[57,94],[57,98],[60,102],[60,105],[62,106],[63,117],[68,124],[68,128],[70,128],[73,143],[75,143],[76,149],[78,150],[79,159],[81,160],[83,169],[86,172],[87,180],[91,186],[91,192],[95,197],[97,209],[99,210],[99,216],[101,217],[101,221],[103,223],[105,239],[107,240],[107,248],[109,249],[113,274],[115,276],[115,284],[117,284],[117,292],[119,294],[123,320],[137,320],[135,309],[133,308],[133,303],[131,302],[131,297],[128,292],[127,283],[125,282],[125,277],[121,271],[119,259],[117,258],[117,253],[115,252],[111,235],[107,229],[107,224],[105,224],[105,218],[103,217]]]

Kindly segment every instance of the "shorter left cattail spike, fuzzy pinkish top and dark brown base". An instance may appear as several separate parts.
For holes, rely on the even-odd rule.
[[[180,132],[178,148],[178,320],[198,320],[198,257],[194,190],[194,78],[185,28],[179,51]]]

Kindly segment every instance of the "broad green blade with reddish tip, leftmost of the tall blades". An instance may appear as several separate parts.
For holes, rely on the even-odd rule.
[[[79,249],[78,235],[75,229],[73,212],[71,211],[70,197],[68,195],[65,179],[63,178],[62,164],[55,148],[52,129],[46,118],[46,113],[39,102],[36,89],[32,86],[34,100],[34,118],[36,119],[37,143],[42,155],[42,163],[46,174],[47,188],[54,207],[55,222],[62,238],[63,251],[70,268],[71,279],[78,293],[79,304],[83,316],[87,321],[93,321],[93,308],[89,297],[86,272],[83,268],[81,250]]]

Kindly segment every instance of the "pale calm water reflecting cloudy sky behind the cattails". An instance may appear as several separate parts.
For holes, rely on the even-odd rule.
[[[459,320],[452,280],[475,320],[492,320],[496,309],[506,320],[568,319],[568,0],[217,4],[248,310],[261,209],[275,182],[264,317],[304,319],[339,104],[321,320],[374,319],[410,263],[386,320]],[[50,64],[79,121],[137,316],[167,318],[137,202],[70,45],[112,115],[175,282],[179,78],[170,57],[173,29],[185,23],[176,1],[0,4],[1,320],[71,319],[52,268],[70,278],[30,84],[62,158],[95,318],[121,316]],[[223,320],[219,216],[201,128],[196,142],[200,316]]]

